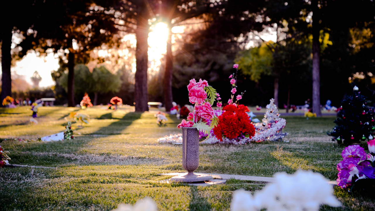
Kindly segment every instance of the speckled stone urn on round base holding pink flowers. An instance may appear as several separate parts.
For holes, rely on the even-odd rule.
[[[195,127],[182,128],[182,166],[187,173],[169,179],[172,182],[201,182],[212,176],[193,173],[199,166],[199,131]]]

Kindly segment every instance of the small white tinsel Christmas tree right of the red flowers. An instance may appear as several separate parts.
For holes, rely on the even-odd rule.
[[[270,99],[270,104],[266,106],[267,111],[264,114],[262,122],[255,124],[255,136],[251,138],[251,141],[276,141],[288,135],[288,133],[281,133],[287,122],[285,119],[279,117],[279,110],[274,101],[273,98]]]

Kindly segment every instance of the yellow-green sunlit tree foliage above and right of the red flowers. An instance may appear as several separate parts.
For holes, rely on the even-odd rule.
[[[258,82],[261,75],[271,75],[273,68],[272,51],[267,44],[260,47],[242,51],[235,60],[239,69],[245,75],[250,75],[251,80]]]

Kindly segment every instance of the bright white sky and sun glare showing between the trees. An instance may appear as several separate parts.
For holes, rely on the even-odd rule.
[[[177,26],[172,28],[173,33],[182,33],[184,28],[182,26]],[[270,29],[266,29],[269,31]],[[166,40],[168,36],[168,29],[165,23],[157,23],[151,27],[151,32],[148,34],[148,60],[150,61],[149,71],[159,71],[160,59],[163,54],[166,53]],[[268,33],[262,33],[262,39],[268,41],[276,41],[276,32],[269,31]],[[13,38],[17,40],[18,38]],[[133,39],[135,42],[134,35],[127,35],[126,38],[130,41]],[[172,40],[172,43],[174,40]],[[252,41],[246,47],[253,47],[254,43]],[[99,51],[100,53],[104,53]],[[42,80],[39,83],[40,87],[53,86],[55,83],[51,77],[51,71],[57,70],[58,56],[53,53],[48,53],[46,56],[38,56],[35,52],[28,53],[22,60],[16,62],[16,65],[11,68],[12,72],[18,75],[24,75],[28,83],[31,84],[30,77],[33,75],[34,71],[38,71]],[[133,72],[135,72],[135,64],[132,66]],[[1,65],[0,65],[1,73]]]

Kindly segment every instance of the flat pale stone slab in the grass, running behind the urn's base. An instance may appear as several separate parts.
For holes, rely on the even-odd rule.
[[[161,173],[159,175],[171,175],[171,176],[177,176],[184,173]],[[197,174],[199,174],[197,172]],[[266,177],[266,176],[245,176],[245,175],[230,175],[230,174],[209,174],[206,173],[213,178],[216,179],[239,179],[239,180],[249,180],[249,181],[263,181],[263,182],[275,182],[275,178],[273,177]],[[337,185],[336,181],[329,181],[328,184]]]

